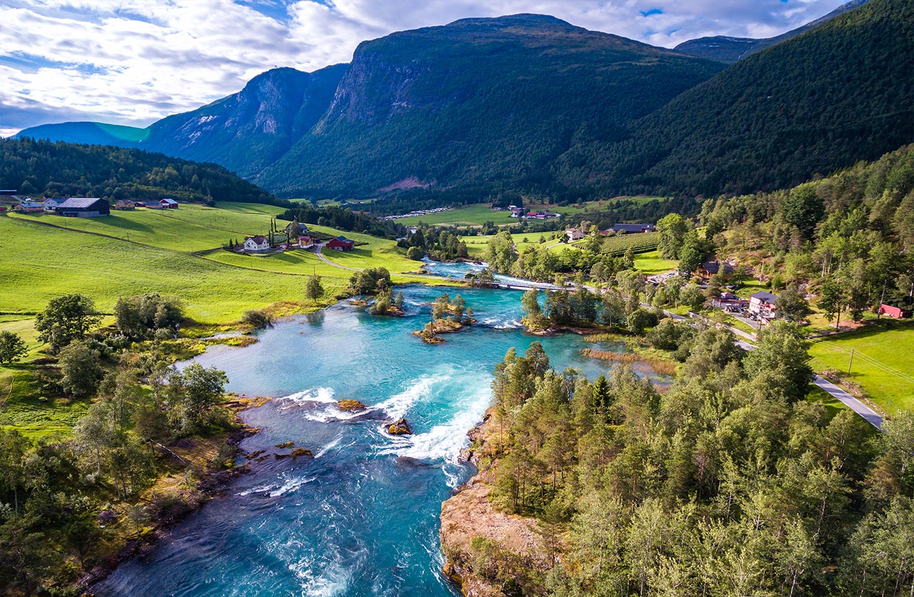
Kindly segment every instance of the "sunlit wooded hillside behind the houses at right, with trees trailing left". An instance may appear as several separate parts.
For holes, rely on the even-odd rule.
[[[489,241],[485,259],[513,276],[618,286],[620,274],[633,272],[643,235],[607,237],[588,219],[575,224],[590,234],[574,247],[518,252],[502,232]],[[697,309],[722,286],[756,278],[781,294],[799,294],[801,303],[814,297],[836,323],[845,312],[860,320],[880,303],[914,308],[914,145],[792,189],[707,199],[695,219],[673,213],[657,225],[661,255],[678,259],[680,277],[660,287],[642,281],[638,291],[656,307],[685,299]],[[711,258],[733,262],[732,277],[711,278],[705,289],[686,284]],[[793,307],[802,318],[802,304]]]

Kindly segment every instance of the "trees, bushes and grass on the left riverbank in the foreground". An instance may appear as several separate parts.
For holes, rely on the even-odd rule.
[[[80,594],[80,579],[197,508],[232,466],[229,438],[242,430],[224,405],[225,374],[171,368],[203,347],[176,338],[180,302],[125,297],[114,312],[55,297],[20,328],[32,330],[25,353],[0,363],[4,594]]]

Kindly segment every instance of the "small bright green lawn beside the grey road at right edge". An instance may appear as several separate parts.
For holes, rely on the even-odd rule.
[[[847,372],[888,414],[914,407],[914,323],[886,322],[813,342],[813,368]]]

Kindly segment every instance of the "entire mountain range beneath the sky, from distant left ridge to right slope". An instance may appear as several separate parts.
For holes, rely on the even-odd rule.
[[[268,71],[142,134],[59,126],[219,162],[281,196],[764,191],[914,141],[912,11],[869,0],[728,67],[551,16],[463,19],[364,42],[350,65]],[[37,131],[69,140],[20,135]]]

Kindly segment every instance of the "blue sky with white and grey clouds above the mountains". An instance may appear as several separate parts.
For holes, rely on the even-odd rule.
[[[0,0],[0,137],[47,122],[146,126],[275,67],[348,62],[359,42],[468,16],[539,13],[674,47],[772,37],[844,0]]]

